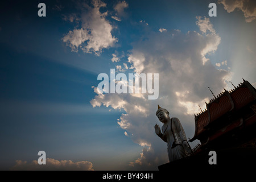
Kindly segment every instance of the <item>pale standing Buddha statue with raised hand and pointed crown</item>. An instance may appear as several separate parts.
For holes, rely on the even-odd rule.
[[[170,118],[170,113],[158,105],[156,116],[163,123],[162,131],[155,124],[155,133],[164,142],[167,142],[168,158],[170,162],[185,158],[192,153],[185,131],[178,118]]]

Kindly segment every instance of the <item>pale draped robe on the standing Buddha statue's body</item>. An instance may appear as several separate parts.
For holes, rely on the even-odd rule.
[[[178,118],[169,119],[168,122],[164,123],[162,133],[167,141],[167,151],[170,162],[185,158],[191,154],[191,148],[183,147],[182,145],[183,142],[187,142],[187,138]],[[174,137],[176,138],[176,146],[172,146],[175,141]],[[188,143],[187,146],[189,146]]]

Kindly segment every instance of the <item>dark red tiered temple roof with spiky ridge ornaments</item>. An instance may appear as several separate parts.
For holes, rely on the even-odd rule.
[[[254,100],[256,100],[256,89],[246,80],[243,80],[243,83],[237,87],[234,86],[234,89],[230,91],[224,89],[224,92],[218,94],[217,97],[214,96],[208,103],[205,102],[206,110],[195,115],[195,135],[189,141],[192,142],[199,138],[201,134],[210,129],[213,123],[217,124],[216,121],[226,113],[240,110]]]

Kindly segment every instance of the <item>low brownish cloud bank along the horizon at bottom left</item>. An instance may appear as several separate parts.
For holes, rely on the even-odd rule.
[[[72,160],[56,160],[47,158],[45,165],[39,165],[37,160],[33,160],[31,163],[27,161],[16,160],[16,163],[11,170],[22,171],[94,171],[93,164],[88,161],[72,162]]]

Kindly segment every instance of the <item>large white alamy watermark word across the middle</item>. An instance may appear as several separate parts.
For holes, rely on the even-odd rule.
[[[147,73],[147,75],[145,73],[139,75],[137,73],[129,73],[127,80],[125,73],[115,75],[115,69],[110,69],[110,81],[106,73],[100,73],[97,80],[102,80],[97,86],[100,93],[148,93],[148,100],[156,100],[159,96],[158,73],[154,73],[154,81],[152,73]]]

